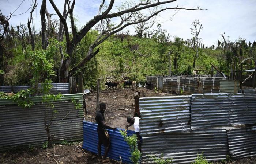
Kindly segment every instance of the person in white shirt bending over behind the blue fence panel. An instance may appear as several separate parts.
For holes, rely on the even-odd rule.
[[[125,126],[125,129],[128,129],[130,126],[133,125],[133,127],[135,129],[136,136],[137,136],[137,140],[138,140],[138,149],[139,149],[139,151],[141,151],[141,141],[142,141],[142,138],[140,137],[140,118],[139,117],[128,116],[127,117],[127,122],[129,124],[127,124]]]

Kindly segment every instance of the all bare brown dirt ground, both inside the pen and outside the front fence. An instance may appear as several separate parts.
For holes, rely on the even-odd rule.
[[[138,88],[146,97],[171,96],[167,93],[155,93],[146,88]],[[126,117],[132,116],[134,112],[134,91],[130,88],[117,88],[116,90],[106,89],[100,93],[101,102],[106,103],[105,119],[107,124],[117,128],[124,128],[127,124]],[[86,95],[86,120],[95,122],[96,93]],[[132,108],[132,109],[131,109]],[[122,110],[117,110],[122,109]],[[131,126],[132,127],[132,126]],[[132,127],[133,128],[133,127]],[[130,130],[133,130],[130,128]],[[83,142],[71,142],[55,144],[54,148],[28,147],[12,149],[0,152],[0,164],[101,164],[97,156],[91,152],[83,151],[80,146]],[[106,164],[120,164],[111,160]],[[215,162],[214,164],[221,164]],[[255,158],[245,158],[231,161],[225,164],[256,164]]]

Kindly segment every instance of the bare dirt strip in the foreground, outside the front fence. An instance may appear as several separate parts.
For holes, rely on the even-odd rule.
[[[82,151],[83,142],[71,142],[67,145],[55,144],[53,148],[30,147],[0,152],[0,164],[103,164],[97,156]],[[55,155],[55,156],[54,156]],[[104,164],[120,164],[111,160]],[[212,164],[256,164],[256,158],[244,158],[230,162]]]

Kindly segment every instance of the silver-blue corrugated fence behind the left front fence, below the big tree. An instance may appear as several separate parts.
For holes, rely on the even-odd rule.
[[[50,90],[52,93],[62,93],[69,94],[70,93],[70,83],[52,83],[53,88]],[[17,93],[20,90],[29,89],[31,86],[13,86],[14,93]],[[38,85],[41,87],[41,84]],[[11,93],[11,86],[0,86],[0,92]]]

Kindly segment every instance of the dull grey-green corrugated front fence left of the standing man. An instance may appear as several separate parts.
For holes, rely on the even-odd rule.
[[[75,109],[75,99],[82,108]],[[13,147],[42,145],[47,141],[44,128],[45,104],[41,97],[33,97],[30,108],[17,106],[11,100],[0,100],[0,151]],[[53,102],[54,110],[50,131],[54,141],[75,141],[83,138],[83,95],[66,94]],[[48,108],[48,111],[51,110]],[[50,121],[49,111],[47,121]]]

